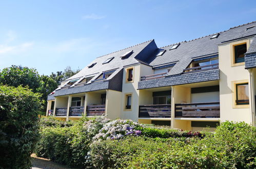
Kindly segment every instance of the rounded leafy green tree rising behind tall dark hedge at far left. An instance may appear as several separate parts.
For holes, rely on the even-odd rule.
[[[37,92],[41,85],[41,78],[33,68],[12,65],[0,72],[0,83],[13,87],[28,86],[33,92]]]

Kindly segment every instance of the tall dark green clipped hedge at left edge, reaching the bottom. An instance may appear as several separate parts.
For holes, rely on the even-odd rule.
[[[29,168],[38,137],[40,95],[0,86],[0,168]]]

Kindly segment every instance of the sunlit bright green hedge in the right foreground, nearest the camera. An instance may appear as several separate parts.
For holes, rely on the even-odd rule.
[[[91,161],[96,168],[255,168],[255,134],[244,122],[224,122],[204,139],[104,140],[92,144]]]

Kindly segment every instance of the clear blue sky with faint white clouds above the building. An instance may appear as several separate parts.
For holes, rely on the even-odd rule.
[[[158,47],[256,20],[256,1],[1,1],[0,69],[40,74],[155,39]]]

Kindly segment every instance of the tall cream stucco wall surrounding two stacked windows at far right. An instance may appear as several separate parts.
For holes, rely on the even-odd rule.
[[[249,82],[249,72],[244,64],[234,66],[232,62],[233,45],[240,44],[248,39],[234,41],[219,45],[219,69],[220,69],[220,110],[221,121],[245,121],[250,123],[249,105],[235,105],[234,83],[240,81]],[[249,44],[247,44],[247,48]],[[250,86],[250,84],[249,84]]]

